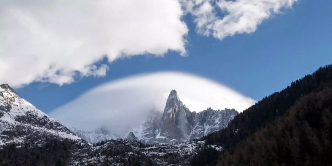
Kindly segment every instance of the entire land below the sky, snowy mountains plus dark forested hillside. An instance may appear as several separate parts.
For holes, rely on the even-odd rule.
[[[70,130],[0,85],[0,166],[330,166],[332,65],[250,108],[163,113],[124,136]]]

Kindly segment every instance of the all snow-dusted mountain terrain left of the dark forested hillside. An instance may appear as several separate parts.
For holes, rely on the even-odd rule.
[[[199,138],[226,127],[237,114],[233,109],[211,108],[191,112],[172,90],[163,114],[118,136],[103,127],[68,129],[2,84],[0,165],[189,165],[204,146]]]

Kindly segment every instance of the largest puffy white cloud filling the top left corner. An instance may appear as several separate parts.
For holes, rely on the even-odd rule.
[[[0,82],[104,76],[107,57],[185,53],[177,0],[1,0]]]

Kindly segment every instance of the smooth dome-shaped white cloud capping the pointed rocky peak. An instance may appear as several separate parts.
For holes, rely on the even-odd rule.
[[[63,124],[84,130],[107,126],[122,133],[141,123],[151,110],[164,111],[175,89],[191,111],[235,108],[243,111],[256,101],[214,81],[179,72],[157,72],[112,81],[94,88],[50,113]]]

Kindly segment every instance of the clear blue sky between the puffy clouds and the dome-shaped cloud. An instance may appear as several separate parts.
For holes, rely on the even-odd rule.
[[[195,32],[192,17],[185,46],[188,56],[125,57],[111,63],[104,77],[76,78],[71,84],[34,82],[17,92],[40,110],[50,112],[111,80],[155,71],[181,71],[224,84],[255,100],[280,91],[291,81],[332,62],[332,1],[299,0],[292,9],[265,20],[251,34],[223,40]]]

